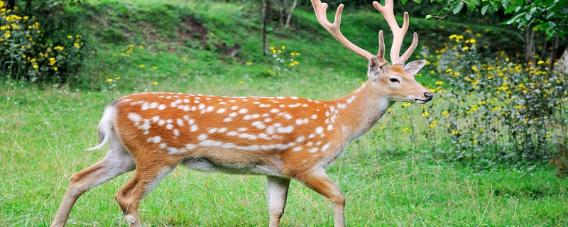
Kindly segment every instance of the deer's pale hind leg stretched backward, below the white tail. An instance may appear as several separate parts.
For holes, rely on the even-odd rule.
[[[132,155],[121,145],[114,145],[102,160],[71,176],[69,187],[51,226],[65,225],[73,205],[84,192],[135,168]]]

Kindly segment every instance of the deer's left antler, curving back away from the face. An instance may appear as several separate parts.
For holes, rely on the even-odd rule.
[[[317,21],[319,21],[320,25],[322,25],[325,28],[325,30],[327,30],[327,32],[332,34],[332,36],[337,41],[339,41],[339,43],[341,43],[348,50],[351,50],[351,52],[354,52],[361,57],[365,57],[365,59],[367,60],[373,57],[373,54],[371,54],[371,52],[363,50],[359,48],[359,46],[354,45],[342,34],[339,26],[342,21],[342,11],[344,7],[343,4],[340,4],[337,7],[333,23],[329,23],[329,20],[327,19],[327,15],[325,13],[325,11],[327,10],[326,3],[322,3],[321,0],[312,0],[312,6],[314,6],[314,11],[315,11],[315,16],[317,17]]]

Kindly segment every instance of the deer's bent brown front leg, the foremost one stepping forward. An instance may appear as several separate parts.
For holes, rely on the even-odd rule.
[[[344,208],[345,196],[342,189],[332,182],[325,174],[324,170],[316,170],[296,175],[295,178],[305,184],[310,189],[330,199],[334,207],[334,226],[345,226]]]

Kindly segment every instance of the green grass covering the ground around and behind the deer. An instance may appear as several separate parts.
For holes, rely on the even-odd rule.
[[[310,33],[274,31],[269,36],[275,44],[287,45],[290,52],[302,52],[295,70],[273,77],[266,73],[273,60],[262,57],[253,41],[243,41],[236,59],[215,51],[189,48],[168,40],[177,31],[165,32],[160,37],[156,35],[160,34],[160,27],[144,23],[152,21],[145,15],[155,15],[155,12],[144,13],[149,11],[147,5],[133,0],[127,3],[138,6],[136,20],[122,19],[125,13],[132,12],[124,5],[102,2],[109,4],[108,8],[101,8],[107,10],[94,11],[102,13],[104,21],[111,22],[108,29],[116,29],[114,35],[118,36],[112,37],[131,35],[113,43],[104,43],[104,36],[101,40],[90,40],[97,49],[80,76],[92,77],[88,87],[94,89],[68,85],[38,89],[10,81],[0,84],[0,223],[3,226],[49,225],[70,176],[104,156],[105,150],[84,149],[97,143],[97,123],[104,106],[119,96],[169,91],[336,99],[349,94],[366,79],[366,62],[337,45],[320,29],[310,12],[297,13],[302,19],[297,26]],[[202,20],[220,37],[217,40],[228,45],[245,40],[246,36],[251,40],[259,38],[254,32],[257,23],[229,20],[212,13],[222,11],[230,14],[228,18],[247,18],[250,12],[239,8],[244,6],[217,3],[194,6],[185,1],[184,4],[195,9],[185,13]],[[163,20],[178,23],[175,13],[180,12],[168,6],[156,7],[170,15]],[[361,18],[367,14],[346,13],[349,14],[344,16],[344,26],[358,24],[354,21],[366,23]],[[163,28],[166,29],[173,28]],[[243,30],[248,32],[241,33]],[[365,29],[346,26],[345,30],[359,33],[356,31]],[[97,31],[94,37],[98,38],[102,33]],[[133,31],[141,33],[128,33]],[[152,38],[145,40],[145,35]],[[376,42],[371,36],[360,40],[368,42],[364,44],[368,49],[374,48]],[[131,55],[121,56],[131,43],[134,44]],[[99,74],[102,79],[98,78]],[[115,74],[121,79],[104,81]],[[418,79],[426,84],[437,80]],[[153,80],[158,84],[153,84]],[[99,92],[101,88],[110,92]],[[451,145],[441,140],[432,142],[421,134],[427,123],[420,113],[419,106],[403,108],[395,104],[371,132],[351,143],[346,153],[329,167],[328,175],[346,196],[349,226],[568,225],[568,182],[555,177],[552,167],[503,166],[479,171],[461,163],[439,160],[437,151]],[[409,122],[414,129],[403,131]],[[67,224],[126,226],[113,195],[130,176],[127,173],[116,177],[84,194]],[[143,199],[141,218],[149,226],[266,226],[265,179],[180,167]],[[332,226],[332,223],[331,203],[293,181],[282,226]]]

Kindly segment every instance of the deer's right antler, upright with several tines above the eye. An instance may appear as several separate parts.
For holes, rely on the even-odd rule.
[[[383,14],[386,22],[388,23],[388,26],[391,27],[391,31],[393,31],[393,45],[391,46],[391,61],[393,62],[393,65],[404,65],[404,62],[406,62],[406,60],[410,58],[410,55],[412,55],[418,44],[418,34],[414,33],[413,43],[402,56],[398,56],[400,54],[400,47],[403,45],[404,35],[408,30],[408,12],[404,13],[403,27],[399,28],[398,23],[396,23],[395,14],[393,12],[393,0],[385,0],[385,6],[381,6],[381,4],[379,4],[377,1],[373,1],[373,6],[375,6],[375,8]],[[378,38],[379,43],[381,43],[381,40],[383,40],[382,31],[379,32]],[[381,45],[379,45],[379,55],[381,55],[381,51],[383,52],[384,60],[384,44],[382,47]],[[380,60],[381,57],[378,57]]]

